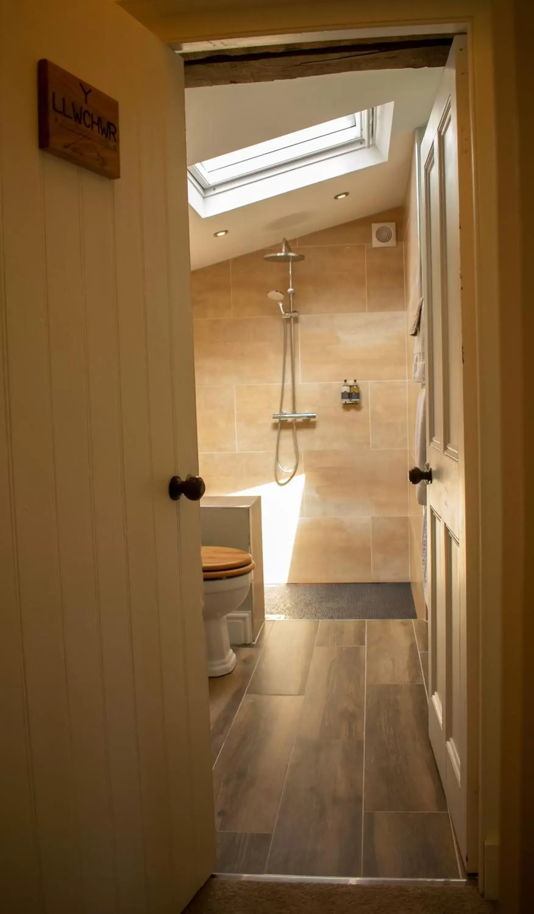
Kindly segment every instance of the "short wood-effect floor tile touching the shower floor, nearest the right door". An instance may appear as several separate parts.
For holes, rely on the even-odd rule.
[[[368,685],[422,683],[419,651],[411,620],[368,622]]]

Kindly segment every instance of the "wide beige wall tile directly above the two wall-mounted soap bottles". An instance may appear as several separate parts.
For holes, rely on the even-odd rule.
[[[405,314],[304,314],[301,380],[404,380]]]

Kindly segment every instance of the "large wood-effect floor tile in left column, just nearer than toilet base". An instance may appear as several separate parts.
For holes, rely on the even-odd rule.
[[[247,695],[213,769],[217,828],[272,833],[303,698]]]

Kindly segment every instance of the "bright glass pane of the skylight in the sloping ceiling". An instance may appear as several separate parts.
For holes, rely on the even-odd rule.
[[[316,124],[295,133],[218,155],[188,169],[204,196],[260,177],[282,174],[299,165],[320,162],[331,155],[373,142],[374,112],[358,112]]]

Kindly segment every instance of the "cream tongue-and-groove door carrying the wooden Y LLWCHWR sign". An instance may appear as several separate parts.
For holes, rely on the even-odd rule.
[[[121,177],[37,149],[37,60]],[[109,0],[0,3],[0,909],[178,914],[215,865],[179,58]]]

